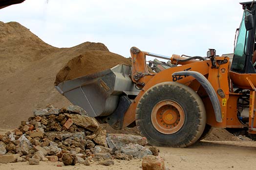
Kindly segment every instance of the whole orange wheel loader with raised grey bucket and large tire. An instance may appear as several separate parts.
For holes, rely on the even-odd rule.
[[[88,116],[114,129],[137,126],[149,144],[188,147],[212,127],[256,134],[256,2],[244,10],[232,63],[209,49],[206,57],[171,57],[130,49],[132,65],[58,84]],[[146,56],[168,60],[146,61]]]

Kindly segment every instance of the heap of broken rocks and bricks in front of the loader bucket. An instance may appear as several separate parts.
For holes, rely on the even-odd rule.
[[[0,135],[0,163],[28,161],[61,161],[112,165],[111,159],[140,159],[152,155],[145,148],[145,137],[129,134],[107,134],[97,120],[88,117],[78,106],[37,109],[28,121],[11,132]]]

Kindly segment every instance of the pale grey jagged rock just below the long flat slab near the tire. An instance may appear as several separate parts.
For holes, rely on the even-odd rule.
[[[139,144],[128,144],[126,147],[121,148],[121,151],[127,155],[132,155],[133,158],[141,159],[147,155],[152,155],[152,152],[139,145]]]

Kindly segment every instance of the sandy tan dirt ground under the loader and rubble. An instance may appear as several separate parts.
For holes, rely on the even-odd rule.
[[[160,156],[170,170],[252,170],[256,162],[255,141],[206,141],[198,142],[189,148],[159,148]],[[0,164],[0,170],[140,170],[142,160],[114,160],[113,166],[92,164],[89,167],[77,164],[64,166],[63,163],[40,162],[28,165],[27,162]],[[62,167],[57,167],[62,165]]]

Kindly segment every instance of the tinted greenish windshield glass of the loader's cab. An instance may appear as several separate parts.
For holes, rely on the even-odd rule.
[[[243,18],[240,24],[239,33],[236,41],[234,58],[232,61],[231,69],[242,73],[244,71],[245,66],[245,51],[246,51],[246,40],[248,38],[248,34],[244,24],[245,15],[249,13],[247,10],[244,11]]]

